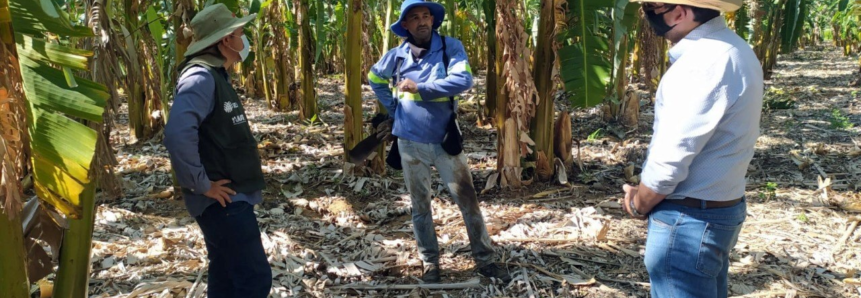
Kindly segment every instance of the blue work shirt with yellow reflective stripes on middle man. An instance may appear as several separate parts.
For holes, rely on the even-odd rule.
[[[463,44],[452,37],[445,37],[449,58],[446,75],[441,38],[434,31],[430,49],[420,58],[414,58],[410,45],[404,42],[383,55],[368,73],[377,100],[389,115],[394,115],[392,134],[398,138],[426,144],[442,143],[453,113],[449,97],[472,87],[472,69],[466,51]],[[399,61],[401,65],[396,76],[394,69]],[[416,82],[418,93],[393,90],[391,83],[395,77],[400,81]]]

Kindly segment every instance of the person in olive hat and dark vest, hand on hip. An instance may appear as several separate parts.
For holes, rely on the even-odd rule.
[[[266,297],[272,269],[263,251],[254,205],[266,186],[257,142],[226,68],[249,53],[243,27],[223,4],[191,20],[192,44],[180,78],[164,144],[185,205],[209,255],[208,295]]]

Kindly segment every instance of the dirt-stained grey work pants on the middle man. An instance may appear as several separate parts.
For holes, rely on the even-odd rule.
[[[439,264],[439,243],[431,211],[431,166],[436,167],[452,200],[460,208],[469,246],[478,268],[494,262],[495,253],[487,235],[487,226],[478,207],[475,187],[466,155],[449,155],[440,144],[425,144],[398,139],[398,150],[404,169],[404,180],[413,206],[413,232],[425,264]]]

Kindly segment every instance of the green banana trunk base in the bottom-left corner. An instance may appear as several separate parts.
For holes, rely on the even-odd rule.
[[[2,4],[0,7],[3,7]],[[0,187],[5,188],[6,185]],[[6,199],[5,194],[0,197],[0,242],[3,243],[0,245],[0,293],[9,298],[27,298],[30,295],[30,283],[27,281],[27,254],[24,252],[21,217],[13,219],[8,210],[2,207]]]

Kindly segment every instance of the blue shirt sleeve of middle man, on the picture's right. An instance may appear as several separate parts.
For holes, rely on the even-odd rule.
[[[419,83],[421,98],[445,98],[463,93],[472,88],[472,68],[460,41],[446,39],[449,54],[448,75],[445,78]]]

